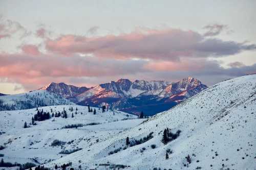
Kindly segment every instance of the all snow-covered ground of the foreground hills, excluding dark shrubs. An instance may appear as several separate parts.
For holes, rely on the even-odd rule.
[[[69,106],[66,107],[68,110]],[[55,110],[63,110],[63,106],[56,106]],[[78,112],[81,110],[82,107],[78,106]],[[17,162],[38,157],[40,163],[45,162],[45,167],[51,168],[72,162],[68,169],[110,169],[108,164],[122,164],[127,165],[126,169],[140,170],[256,168],[256,75],[218,83],[147,120],[114,122],[126,117],[126,114],[93,115],[87,112],[87,107],[83,110],[83,115],[71,118],[68,112],[67,119],[55,118],[56,122],[50,119],[27,129],[21,126],[24,121],[29,122],[35,109],[0,112],[1,131],[6,131],[0,136],[0,144],[11,139],[6,144],[7,148],[0,153],[5,154],[7,160]],[[71,123],[92,122],[102,124],[60,129]],[[54,130],[56,128],[59,130]],[[181,130],[181,133],[177,139],[164,144],[162,137],[165,128],[173,133]],[[153,138],[145,140],[149,134]],[[130,142],[145,139],[131,147],[126,146],[127,137]],[[63,145],[63,149],[77,147],[82,150],[66,156],[58,154],[63,149],[49,146],[54,139],[66,142],[74,140],[71,144]],[[30,145],[31,142],[34,144]],[[153,144],[156,145],[155,149],[151,147]],[[165,159],[168,150],[172,152],[168,152],[169,158]],[[191,163],[187,162],[187,155]]]

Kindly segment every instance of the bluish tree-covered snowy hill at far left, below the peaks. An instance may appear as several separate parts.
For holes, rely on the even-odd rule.
[[[74,103],[46,90],[35,90],[27,93],[0,96],[0,110],[20,110],[65,104]]]

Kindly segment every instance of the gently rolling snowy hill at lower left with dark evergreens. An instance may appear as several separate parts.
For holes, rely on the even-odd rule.
[[[69,110],[70,107],[73,107],[73,111]],[[94,115],[88,112],[88,107],[77,105],[47,106],[38,109],[46,112],[51,112],[52,109],[55,113],[63,111],[63,108],[67,111],[68,118],[52,117],[41,122],[36,121],[37,125],[30,125],[31,127],[26,129],[22,127],[25,122],[28,125],[31,123],[32,116],[37,113],[36,109],[0,111],[0,132],[5,132],[0,135],[0,145],[6,147],[0,151],[0,154],[4,154],[4,160],[12,163],[36,163],[36,161],[46,163],[65,156],[59,154],[60,151],[87,148],[97,140],[101,142],[111,138],[120,131],[137,126],[143,121],[143,119],[134,119],[137,116],[120,111],[115,111],[115,114],[113,111],[102,113],[98,108]],[[74,117],[71,116],[72,113]],[[87,125],[91,123],[99,123],[99,125]],[[84,126],[61,129],[72,124]],[[51,147],[50,144],[55,139],[65,141],[66,144],[62,147]]]

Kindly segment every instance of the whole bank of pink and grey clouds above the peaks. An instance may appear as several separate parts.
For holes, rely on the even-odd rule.
[[[188,76],[211,85],[256,73],[256,64],[230,62],[224,68],[220,62],[209,60],[256,49],[253,43],[212,38],[226,28],[206,26],[205,34],[147,29],[119,35],[69,34],[57,38],[50,38],[48,31],[40,28],[33,35],[42,39],[40,47],[44,46],[45,51],[41,52],[33,43],[25,43],[19,46],[20,52],[0,53],[0,79],[32,90],[52,81],[91,86],[119,78],[178,81]],[[95,34],[97,29],[93,27],[88,33]],[[16,22],[0,23],[0,41],[20,30],[23,35],[30,33]]]

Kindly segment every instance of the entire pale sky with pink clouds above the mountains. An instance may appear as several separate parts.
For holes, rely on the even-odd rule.
[[[256,1],[0,1],[0,93],[256,73]]]

